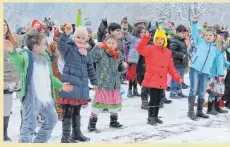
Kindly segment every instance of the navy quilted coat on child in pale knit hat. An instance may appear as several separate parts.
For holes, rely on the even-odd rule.
[[[98,80],[93,67],[93,62],[89,52],[82,56],[77,46],[63,33],[58,40],[58,50],[64,57],[65,65],[62,74],[62,82],[69,82],[73,85],[73,91],[60,91],[62,98],[89,99],[88,79],[92,85],[97,85]]]

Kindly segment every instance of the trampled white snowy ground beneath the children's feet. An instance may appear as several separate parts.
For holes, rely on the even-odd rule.
[[[185,78],[188,82],[188,75]],[[139,92],[140,92],[140,87]],[[125,86],[127,91],[127,86]],[[188,94],[188,90],[184,90]],[[93,97],[94,93],[90,93]],[[230,142],[230,113],[210,116],[210,119],[201,119],[194,122],[187,117],[187,99],[173,100],[172,104],[160,110],[164,124],[158,126],[147,125],[147,111],[140,108],[141,99],[127,98],[124,94],[123,108],[119,114],[119,121],[127,126],[124,129],[109,128],[109,114],[99,115],[97,128],[104,130],[101,133],[88,133],[87,125],[91,112],[91,105],[83,108],[82,131],[91,138],[91,143],[150,143],[150,142]],[[167,97],[169,93],[167,92]],[[13,142],[18,141],[20,128],[20,102],[14,99],[13,114],[9,122],[9,136]],[[204,110],[206,112],[206,108]],[[59,143],[61,139],[61,122],[59,121],[52,133],[50,143]]]

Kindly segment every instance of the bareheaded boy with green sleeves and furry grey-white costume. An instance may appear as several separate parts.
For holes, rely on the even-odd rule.
[[[19,142],[45,143],[57,123],[54,88],[69,92],[72,86],[68,83],[62,84],[53,76],[43,32],[33,28],[27,33],[25,43],[29,50],[19,53],[8,40],[4,40],[4,49],[8,51],[10,60],[21,74],[23,116]],[[44,122],[34,137],[37,114],[40,114]]]

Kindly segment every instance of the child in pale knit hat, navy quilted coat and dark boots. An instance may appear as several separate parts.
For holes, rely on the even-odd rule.
[[[58,50],[64,58],[64,69],[62,81],[73,85],[73,91],[70,93],[61,91],[63,98],[62,120],[62,143],[76,141],[89,141],[81,132],[81,106],[87,104],[89,99],[88,79],[96,88],[98,80],[93,68],[91,55],[87,52],[86,44],[88,32],[85,27],[77,27],[73,34],[73,40],[69,38],[72,32],[71,24],[65,24],[64,33],[58,40]],[[70,136],[72,126],[72,135]]]

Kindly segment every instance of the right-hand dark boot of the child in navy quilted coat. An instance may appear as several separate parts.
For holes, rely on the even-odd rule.
[[[88,142],[89,138],[85,137],[81,132],[81,116],[77,115],[72,118],[72,139],[75,141]]]

